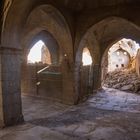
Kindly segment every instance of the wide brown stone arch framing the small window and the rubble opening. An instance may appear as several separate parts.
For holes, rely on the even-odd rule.
[[[88,36],[90,34],[90,36]],[[98,71],[98,76],[96,81],[98,81],[98,86],[96,88],[101,86],[101,80],[102,80],[102,69],[103,66],[102,64],[104,63],[102,58],[104,57],[104,52],[107,51],[107,49],[110,48],[112,44],[120,40],[121,38],[131,38],[135,41],[139,41],[140,38],[140,29],[137,25],[134,23],[130,22],[127,19],[123,19],[121,17],[107,17],[100,22],[92,25],[87,32],[85,33],[84,37],[81,39],[79,43],[79,48],[77,49],[76,53],[76,72],[75,72],[75,77],[76,77],[76,95],[78,95],[78,74],[76,74],[79,69],[80,69],[80,52],[82,49],[82,46],[86,44],[86,42],[96,42],[95,45],[90,44],[90,49],[91,55],[93,58],[93,63],[96,63],[98,68],[95,68]],[[95,52],[95,53],[94,53]],[[95,61],[96,60],[96,61]],[[94,71],[95,72],[95,71]],[[95,72],[96,73],[96,72]]]

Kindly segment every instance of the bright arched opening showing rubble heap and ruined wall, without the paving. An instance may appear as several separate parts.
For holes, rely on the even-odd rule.
[[[136,72],[139,48],[136,41],[126,38],[110,47],[106,54],[108,61],[103,66],[103,87],[140,94],[140,78]]]

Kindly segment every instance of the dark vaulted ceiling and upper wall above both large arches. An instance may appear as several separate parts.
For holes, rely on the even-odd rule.
[[[79,30],[79,34],[85,31],[100,20],[108,16],[120,16],[136,24],[140,24],[139,9],[140,0],[3,0],[5,3],[11,2],[11,7],[4,10],[3,25],[7,20],[6,30],[22,30],[30,13],[40,5],[52,5],[65,17],[73,34],[74,29]],[[125,8],[127,7],[127,8]],[[105,9],[105,10],[104,10]],[[110,10],[111,9],[111,10]],[[8,12],[9,10],[9,12]],[[87,12],[89,11],[89,12]],[[85,12],[85,13],[84,13]],[[76,14],[75,14],[76,13]],[[78,13],[78,14],[77,14]],[[76,15],[76,16],[75,16]],[[14,18],[13,18],[14,17]],[[85,21],[84,21],[85,20]],[[88,24],[87,24],[88,23]],[[9,28],[9,29],[8,29]],[[78,29],[79,28],[79,29]],[[82,30],[81,30],[82,29]],[[7,31],[8,32],[8,31]],[[20,31],[21,32],[21,31]],[[9,32],[8,32],[9,33]]]

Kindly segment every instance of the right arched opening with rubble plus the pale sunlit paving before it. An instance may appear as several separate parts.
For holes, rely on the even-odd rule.
[[[105,110],[140,112],[139,48],[136,41],[123,38],[104,53],[102,90],[89,100],[93,106]]]

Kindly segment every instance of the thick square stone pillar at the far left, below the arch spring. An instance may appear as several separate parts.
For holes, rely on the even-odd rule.
[[[20,64],[20,50],[0,46],[0,127],[23,121]]]

